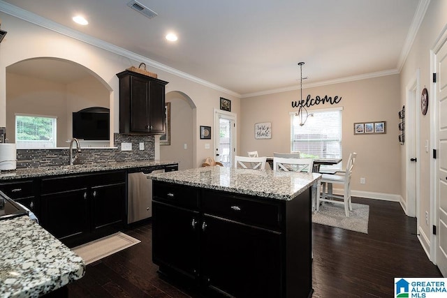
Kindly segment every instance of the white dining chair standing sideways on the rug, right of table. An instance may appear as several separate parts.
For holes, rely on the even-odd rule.
[[[357,154],[353,152],[349,154],[349,160],[346,164],[346,171],[340,171],[340,174],[323,174],[321,177],[321,185],[323,190],[321,196],[316,198],[316,211],[320,209],[320,202],[332,202],[336,204],[344,205],[344,214],[349,217],[349,211],[352,211],[351,202],[351,178],[354,163],[356,161]],[[332,193],[332,185],[339,184],[344,186],[343,195],[335,195]],[[328,186],[328,193],[326,193],[326,185]]]

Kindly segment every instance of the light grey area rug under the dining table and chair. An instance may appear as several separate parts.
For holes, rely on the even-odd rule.
[[[369,206],[365,204],[352,204],[349,217],[344,215],[344,205],[327,203],[321,205],[320,211],[312,214],[312,222],[321,225],[330,225],[368,234]]]

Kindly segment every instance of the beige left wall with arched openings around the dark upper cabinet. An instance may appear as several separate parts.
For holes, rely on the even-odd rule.
[[[36,26],[29,22],[0,13],[1,29],[8,31],[8,35],[0,45],[0,126],[6,126],[6,67],[34,57],[56,57],[74,61],[85,66],[98,80],[103,82],[110,90],[110,121],[113,123],[113,131],[119,131],[119,84],[117,73],[138,66],[145,62],[149,70],[159,75],[161,80],[169,82],[166,85],[166,93],[181,91],[186,94],[196,106],[193,113],[193,142],[196,148],[193,154],[193,167],[198,167],[203,160],[212,154],[212,147],[205,149],[198,136],[199,126],[213,126],[213,110],[219,109],[219,98],[231,100],[232,112],[240,113],[240,99],[230,91],[192,77],[191,80],[185,74],[177,74],[175,71],[165,71],[154,68],[151,61],[136,54],[115,54],[108,50],[82,43],[79,40],[61,35],[54,31]],[[30,46],[32,45],[32,46]],[[6,127],[8,133],[8,126]],[[159,151],[156,148],[156,151]]]

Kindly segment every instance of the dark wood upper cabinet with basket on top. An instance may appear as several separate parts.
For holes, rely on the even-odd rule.
[[[168,82],[125,70],[119,77],[119,133],[166,133]]]

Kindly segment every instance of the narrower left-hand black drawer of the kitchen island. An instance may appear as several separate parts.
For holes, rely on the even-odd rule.
[[[177,207],[198,209],[199,190],[191,186],[180,186],[161,181],[152,184],[153,200],[167,202]]]

